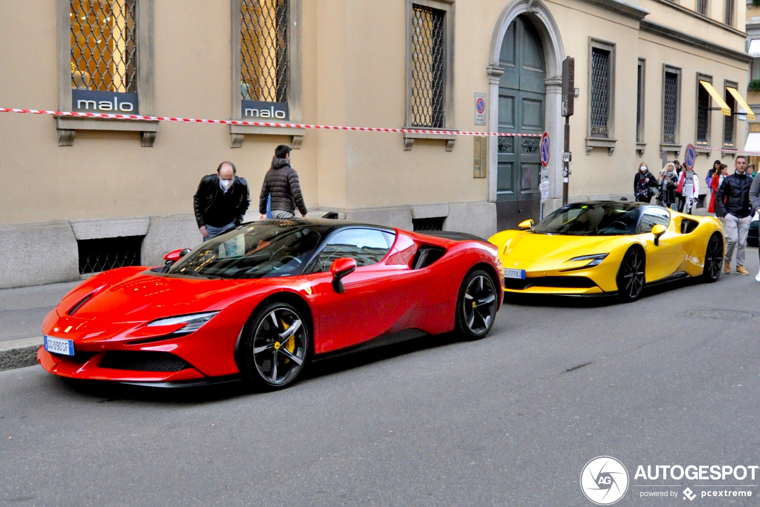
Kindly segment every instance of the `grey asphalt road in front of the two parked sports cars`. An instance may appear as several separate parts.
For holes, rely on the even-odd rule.
[[[616,505],[691,505],[642,497],[663,490],[653,484],[758,485],[760,474],[634,479],[638,464],[760,464],[756,250],[748,257],[751,277],[628,305],[521,300],[481,341],[344,356],[274,393],[0,372],[0,505],[593,505],[579,476],[599,455],[628,468]],[[748,313],[684,315],[694,309]],[[754,496],[694,502],[757,505],[760,488],[743,489]]]

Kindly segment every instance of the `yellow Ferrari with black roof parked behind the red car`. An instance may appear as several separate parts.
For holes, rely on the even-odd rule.
[[[491,236],[508,293],[601,296],[635,301],[650,284],[682,277],[714,282],[724,256],[713,217],[644,202],[568,204],[534,226]]]

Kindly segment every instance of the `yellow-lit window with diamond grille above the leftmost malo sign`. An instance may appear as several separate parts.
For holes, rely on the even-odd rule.
[[[70,0],[71,87],[135,92],[135,0]]]

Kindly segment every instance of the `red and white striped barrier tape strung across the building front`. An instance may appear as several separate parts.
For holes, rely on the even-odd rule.
[[[424,130],[420,128],[378,128],[378,127],[341,127],[334,125],[309,125],[306,123],[270,123],[270,122],[244,122],[242,120],[229,119],[197,119],[197,118],[173,118],[170,116],[142,116],[106,114],[103,112],[70,112],[70,111],[46,111],[43,109],[13,109],[0,107],[0,112],[27,112],[34,115],[74,116],[81,118],[104,118],[104,119],[131,119],[144,120],[147,122],[180,122],[180,123],[215,123],[219,125],[252,125],[255,127],[283,127],[283,128],[316,128],[321,130],[352,130],[359,132],[408,132],[410,134],[445,134],[445,135],[496,135],[509,138],[540,138],[540,134],[512,134],[505,132],[461,132],[445,130]]]

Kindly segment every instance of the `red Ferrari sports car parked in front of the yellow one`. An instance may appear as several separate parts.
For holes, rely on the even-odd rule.
[[[346,220],[262,220],[90,278],[43,322],[55,375],[140,385],[291,384],[312,358],[421,334],[485,336],[495,246]],[[448,236],[448,237],[447,237]]]

